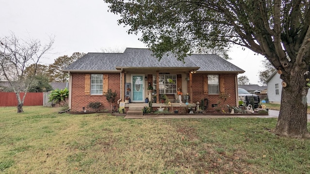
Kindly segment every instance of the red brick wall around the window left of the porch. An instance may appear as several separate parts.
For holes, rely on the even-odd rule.
[[[117,92],[115,103],[118,108],[117,101],[120,99],[120,74],[119,73],[109,73],[109,89]],[[71,111],[80,112],[82,107],[86,110],[93,110],[88,108],[90,102],[101,102],[102,109],[111,109],[110,103],[107,101],[104,95],[85,95],[85,73],[72,73],[72,90],[71,90]]]

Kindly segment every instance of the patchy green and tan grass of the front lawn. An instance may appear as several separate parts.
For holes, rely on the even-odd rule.
[[[59,110],[0,107],[0,173],[310,171],[310,140],[274,135],[274,118],[124,119]]]

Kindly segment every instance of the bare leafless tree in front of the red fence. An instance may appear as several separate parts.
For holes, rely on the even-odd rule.
[[[42,45],[39,40],[19,39],[14,33],[0,38],[0,73],[16,94],[17,113],[23,112],[24,100],[36,74],[38,62],[52,50],[53,43],[53,37],[49,38],[49,43]],[[32,75],[27,76],[24,72],[31,64],[35,66]],[[22,98],[20,92],[25,92]]]

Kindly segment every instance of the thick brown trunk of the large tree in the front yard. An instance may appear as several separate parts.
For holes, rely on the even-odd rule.
[[[290,74],[281,75],[281,78],[287,86],[282,87],[281,107],[275,133],[281,136],[309,137],[306,99],[308,88],[305,88],[304,72],[292,69]]]

